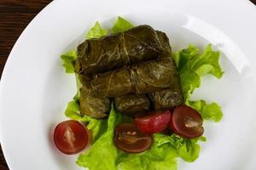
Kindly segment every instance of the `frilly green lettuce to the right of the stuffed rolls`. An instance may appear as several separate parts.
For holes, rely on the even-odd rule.
[[[189,101],[195,88],[201,86],[201,77],[209,74],[219,79],[223,76],[224,71],[218,64],[219,52],[213,51],[212,45],[209,44],[204,52],[200,53],[199,48],[190,44],[188,48],[174,54],[174,60],[179,71],[185,104],[198,111],[203,119],[219,122],[223,113],[217,103],[207,104],[204,100]]]

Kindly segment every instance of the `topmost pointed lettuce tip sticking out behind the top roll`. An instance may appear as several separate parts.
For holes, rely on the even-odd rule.
[[[122,17],[118,17],[117,20],[115,21],[113,28],[111,29],[112,33],[118,33],[121,31],[127,31],[131,28],[133,28],[134,26],[131,24],[130,21],[125,20]]]

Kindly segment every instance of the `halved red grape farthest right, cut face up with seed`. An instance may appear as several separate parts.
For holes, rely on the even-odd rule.
[[[189,106],[179,105],[172,113],[171,127],[174,133],[188,139],[197,138],[204,133],[201,115]]]

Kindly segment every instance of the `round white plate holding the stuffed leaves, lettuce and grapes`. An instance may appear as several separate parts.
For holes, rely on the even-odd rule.
[[[223,52],[220,81],[205,77],[195,99],[223,106],[220,123],[206,123],[207,143],[194,163],[179,170],[247,170],[256,167],[256,8],[246,0],[56,0],[32,20],[15,43],[3,71],[1,144],[12,170],[79,169],[64,156],[52,130],[75,94],[75,80],[60,54],[75,48],[96,20],[110,27],[117,15],[166,31],[173,49],[211,42]],[[95,160],[102,161],[102,160]]]

